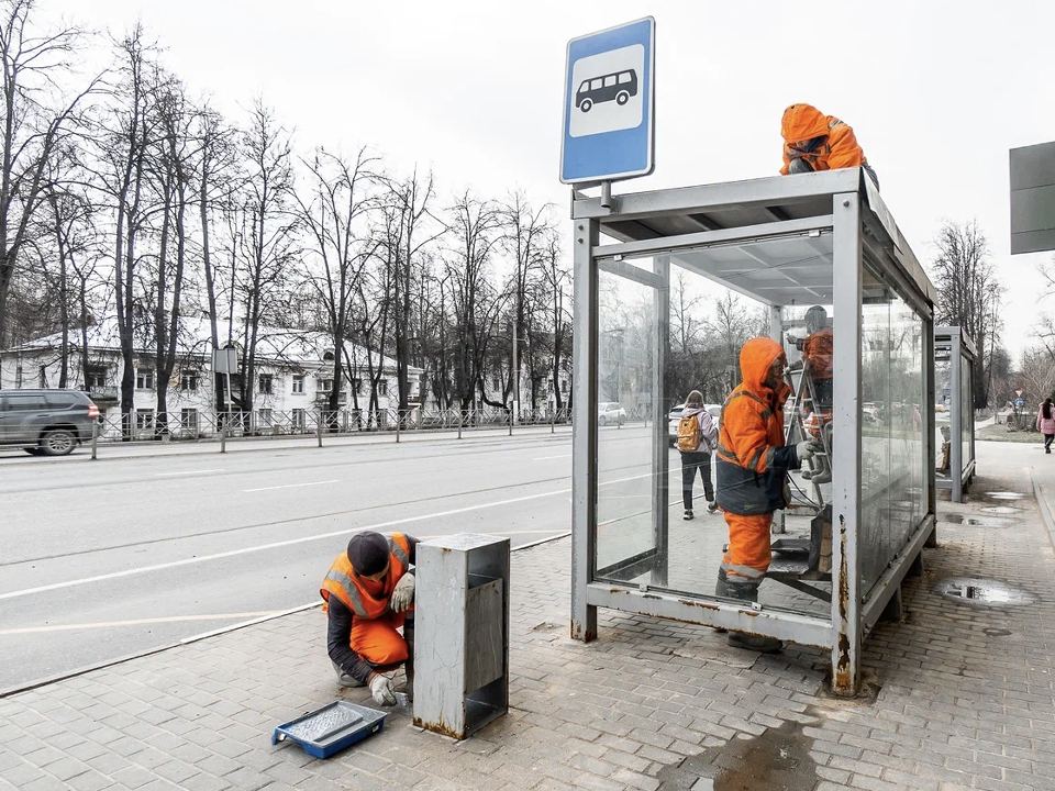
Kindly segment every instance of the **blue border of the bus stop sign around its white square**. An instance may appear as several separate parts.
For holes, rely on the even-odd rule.
[[[638,126],[596,135],[571,137],[568,134],[571,121],[571,68],[575,62],[599,53],[644,44],[645,68],[642,85],[644,112]],[[652,16],[610,27],[568,42],[564,77],[564,119],[560,146],[560,181],[584,183],[614,181],[617,179],[647,176],[655,168],[655,58],[656,21]]]

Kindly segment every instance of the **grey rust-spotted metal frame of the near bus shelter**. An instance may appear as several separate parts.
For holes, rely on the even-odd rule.
[[[597,608],[604,606],[730,630],[769,635],[831,650],[832,686],[839,694],[854,694],[860,679],[860,646],[891,600],[902,578],[934,534],[933,398],[926,410],[929,438],[923,452],[925,514],[867,598],[860,589],[860,363],[864,267],[878,271],[922,317],[925,391],[933,393],[932,305],[934,287],[893,223],[878,192],[859,169],[793,177],[755,179],[722,185],[658,190],[608,199],[573,191],[575,249],[575,382],[573,458],[573,581],[571,636],[597,636]],[[598,272],[630,277],[656,289],[656,366],[653,404],[658,448],[653,491],[655,548],[625,558],[625,568],[653,569],[653,584],[666,581],[667,503],[666,421],[662,410],[663,357],[666,345],[667,282],[671,260],[682,249],[704,245],[736,247],[776,236],[831,231],[834,309],[834,422],[840,436],[833,457],[833,536],[831,620],[767,606],[752,606],[703,594],[655,590],[647,584],[596,579],[597,550],[597,328]],[[600,234],[614,244],[600,245]],[[809,243],[813,246],[813,243]],[[748,258],[755,257],[744,250]],[[624,256],[653,255],[652,270],[635,267]],[[598,260],[603,258],[603,260]],[[755,260],[765,263],[760,258]],[[713,272],[707,277],[722,280]],[[774,317],[781,305],[749,291],[748,286],[724,283],[768,302]],[[745,290],[746,289],[746,290]],[[777,327],[778,330],[779,327]],[[774,330],[774,332],[777,332]],[[662,434],[662,437],[660,437]],[[660,505],[662,504],[662,505]],[[656,517],[656,514],[659,514]],[[662,535],[660,535],[662,534]],[[645,557],[645,556],[648,557]],[[658,556],[658,557],[657,557]]]

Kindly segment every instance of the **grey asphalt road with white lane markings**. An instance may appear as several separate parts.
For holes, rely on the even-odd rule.
[[[613,449],[645,432],[603,431]],[[610,484],[647,478],[641,455],[613,453]],[[357,530],[490,533],[514,547],[567,532],[570,470],[567,430],[98,461],[4,455],[0,690],[318,601]]]

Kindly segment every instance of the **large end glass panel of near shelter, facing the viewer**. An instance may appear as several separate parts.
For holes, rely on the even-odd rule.
[[[600,259],[598,267],[598,402],[619,402],[628,416],[619,427],[601,422],[598,412],[595,578],[713,595],[730,536],[722,513],[708,510],[717,483],[714,447],[695,453],[678,447],[686,400],[699,391],[701,420],[717,430],[722,403],[742,380],[744,342],[758,335],[779,338],[793,364],[802,359],[811,332],[830,334],[831,232]],[[649,286],[629,267],[657,279]],[[818,320],[814,310],[810,315],[820,324],[809,327],[813,305],[823,316]],[[792,391],[801,382],[801,365],[788,375]],[[818,377],[821,387],[831,382],[830,358],[826,367]],[[659,388],[657,402],[651,382]],[[830,422],[830,403],[822,409],[817,420]],[[789,398],[785,428],[791,442],[810,431],[812,411],[803,399]],[[649,424],[653,415],[658,425]],[[785,550],[773,553],[781,568],[808,556],[817,501],[826,502],[832,489],[830,478],[814,488],[798,472],[789,482],[801,508],[778,512],[774,525],[784,539]],[[769,527],[763,531],[768,541]],[[767,608],[830,617],[830,576],[814,572],[807,579],[820,595],[769,576],[758,600]]]

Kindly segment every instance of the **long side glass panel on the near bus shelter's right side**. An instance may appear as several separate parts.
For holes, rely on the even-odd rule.
[[[862,307],[862,593],[925,516],[923,319],[867,269]]]

